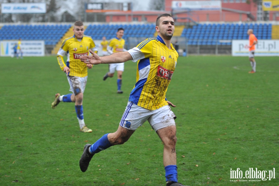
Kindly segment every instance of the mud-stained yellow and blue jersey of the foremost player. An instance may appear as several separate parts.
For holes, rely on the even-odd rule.
[[[129,101],[150,110],[168,105],[166,91],[177,63],[177,51],[172,44],[168,49],[160,36],[139,43],[136,50],[143,55],[133,54],[133,49],[128,51],[133,61],[138,60],[136,84]]]

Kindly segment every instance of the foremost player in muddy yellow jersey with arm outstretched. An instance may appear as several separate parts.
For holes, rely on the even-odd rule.
[[[85,145],[79,161],[82,172],[87,170],[95,153],[125,143],[139,126],[148,121],[164,144],[166,186],[183,186],[178,183],[176,166],[176,116],[170,109],[175,105],[166,100],[166,91],[178,58],[170,42],[175,30],[171,15],[160,15],[155,29],[157,38],[148,38],[128,51],[104,57],[90,51],[93,55],[80,58],[86,64],[123,63],[129,60],[138,63],[136,83],[117,131],[103,135],[93,145]]]

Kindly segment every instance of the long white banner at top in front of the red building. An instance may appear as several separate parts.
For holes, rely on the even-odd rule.
[[[172,1],[171,8],[174,10],[221,10],[221,1]]]

